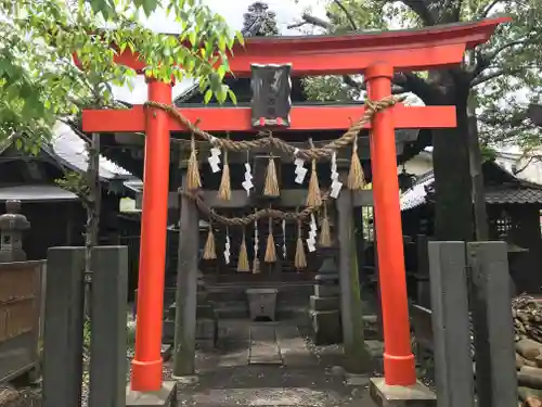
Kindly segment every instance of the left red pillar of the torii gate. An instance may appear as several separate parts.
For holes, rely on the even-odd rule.
[[[170,104],[171,85],[147,78],[150,101]],[[169,116],[158,109],[145,112],[145,161],[143,216],[138,281],[136,355],[131,387],[138,391],[162,386],[162,329],[166,270],[166,230],[169,194]]]

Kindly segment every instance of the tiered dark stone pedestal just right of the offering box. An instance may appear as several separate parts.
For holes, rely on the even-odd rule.
[[[312,322],[313,341],[317,345],[340,343],[340,290],[336,249],[322,250],[325,256],[314,277],[314,295],[310,296],[309,317]]]

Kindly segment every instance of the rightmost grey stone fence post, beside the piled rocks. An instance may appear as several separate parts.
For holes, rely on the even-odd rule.
[[[505,242],[467,243],[472,269],[476,386],[480,407],[517,405],[514,328]]]

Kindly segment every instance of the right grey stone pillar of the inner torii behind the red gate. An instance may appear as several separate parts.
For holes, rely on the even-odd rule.
[[[337,201],[340,320],[345,348],[345,368],[352,373],[363,373],[371,369],[371,360],[363,338],[363,304],[353,233],[352,192],[343,189]]]

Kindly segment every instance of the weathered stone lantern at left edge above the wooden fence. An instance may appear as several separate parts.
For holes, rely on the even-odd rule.
[[[21,214],[21,201],[7,201],[5,214],[0,215],[0,263],[26,260],[22,237],[29,228],[30,222]]]

